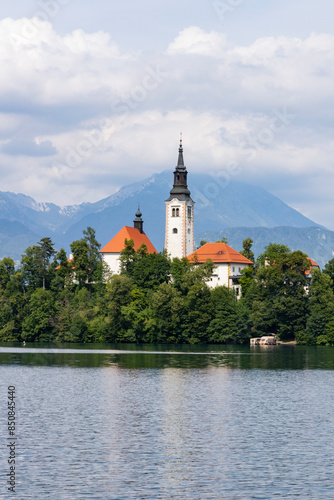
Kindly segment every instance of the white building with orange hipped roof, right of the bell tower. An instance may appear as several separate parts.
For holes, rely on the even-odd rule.
[[[206,243],[188,255],[189,262],[193,264],[204,264],[208,259],[215,265],[208,286],[226,286],[235,290],[237,297],[241,297],[241,271],[252,266],[253,262],[227,243]]]

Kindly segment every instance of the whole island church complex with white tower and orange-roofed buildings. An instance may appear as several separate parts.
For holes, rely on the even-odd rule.
[[[238,278],[241,270],[252,266],[246,259],[226,243],[207,243],[195,251],[194,237],[194,205],[188,189],[188,172],[183,159],[182,139],[178,151],[178,161],[173,172],[173,187],[166,203],[165,249],[171,259],[187,257],[195,265],[211,259],[215,264],[208,285],[227,286],[240,296]],[[149,253],[157,253],[153,244],[143,230],[142,213],[138,207],[133,227],[124,226],[101,250],[100,253],[113,274],[120,273],[120,256],[125,239],[132,239],[135,250],[145,244]]]

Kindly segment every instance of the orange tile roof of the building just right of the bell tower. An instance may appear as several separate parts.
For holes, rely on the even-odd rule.
[[[211,259],[215,264],[253,264],[251,260],[246,259],[226,243],[206,243],[188,256],[190,262],[203,263],[208,259]]]

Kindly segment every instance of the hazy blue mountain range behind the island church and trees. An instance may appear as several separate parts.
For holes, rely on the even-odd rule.
[[[236,250],[251,237],[253,251],[270,242],[302,250],[323,266],[333,257],[334,232],[319,226],[268,191],[236,180],[191,173],[196,244],[225,236]],[[173,174],[164,171],[119,189],[96,203],[61,207],[37,203],[24,194],[0,192],[0,258],[20,260],[24,250],[45,236],[68,253],[70,243],[91,226],[105,245],[124,225],[132,226],[138,205],[144,230],[158,251],[164,246],[165,204]],[[332,250],[333,249],[333,250]]]

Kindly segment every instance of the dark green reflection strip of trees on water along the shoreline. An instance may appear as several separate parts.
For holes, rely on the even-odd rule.
[[[0,364],[129,368],[334,368],[333,347],[164,344],[0,344]]]

